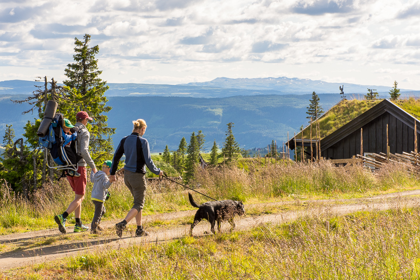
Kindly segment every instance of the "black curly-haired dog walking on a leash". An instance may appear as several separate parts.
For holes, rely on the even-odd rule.
[[[208,201],[203,204],[197,204],[193,196],[188,193],[188,198],[191,205],[197,207],[198,210],[195,213],[194,222],[191,225],[190,236],[193,235],[193,228],[201,222],[201,220],[206,219],[210,222],[211,232],[216,234],[214,226],[217,221],[217,231],[220,233],[221,221],[228,221],[232,226],[230,231],[233,231],[235,228],[235,223],[233,218],[236,214],[242,216],[245,214],[244,204],[241,201],[234,200],[221,200],[221,201]]]

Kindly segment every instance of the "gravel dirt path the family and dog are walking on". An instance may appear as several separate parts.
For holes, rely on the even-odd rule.
[[[246,230],[261,223],[280,224],[295,220],[299,216],[318,216],[320,214],[341,215],[355,211],[385,210],[391,208],[411,207],[420,204],[420,190],[406,191],[380,195],[364,199],[348,200],[295,200],[258,204],[246,204],[245,209],[276,207],[284,205],[298,205],[297,210],[282,211],[276,214],[248,215],[236,217],[235,231]],[[144,216],[144,222],[170,221],[174,219],[188,218],[195,214],[192,211],[180,211],[156,215]],[[101,251],[110,248],[126,247],[133,244],[158,243],[166,240],[174,240],[188,235],[190,224],[174,225],[170,227],[148,227],[149,236],[133,237],[134,231],[125,231],[122,238],[118,238],[114,231],[114,225],[118,221],[105,221],[102,226],[104,232],[91,235],[88,232],[72,233],[73,227],[67,227],[71,232],[67,235],[59,233],[58,229],[49,229],[36,232],[10,234],[0,237],[0,270],[28,266],[49,262],[58,258],[84,254],[91,251]],[[192,219],[191,221],[192,222]],[[134,225],[131,221],[129,225]],[[182,224],[182,223],[180,223]],[[131,226],[133,228],[133,226]],[[228,223],[222,223],[222,232],[230,228]],[[210,233],[210,223],[199,223],[193,232],[193,236],[200,237]]]

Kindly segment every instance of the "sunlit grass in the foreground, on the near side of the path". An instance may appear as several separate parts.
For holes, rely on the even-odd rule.
[[[301,217],[245,232],[96,251],[0,277],[419,279],[419,224],[419,208]]]

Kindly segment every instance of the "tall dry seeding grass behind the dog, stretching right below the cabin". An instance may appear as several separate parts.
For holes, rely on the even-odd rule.
[[[196,181],[218,199],[246,201],[287,196],[340,196],[368,191],[412,188],[418,185],[416,172],[407,163],[388,163],[374,173],[362,165],[336,167],[319,163],[283,162],[249,171],[236,167],[206,168],[196,172]]]

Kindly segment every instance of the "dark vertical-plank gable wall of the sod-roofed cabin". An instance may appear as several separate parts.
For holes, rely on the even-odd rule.
[[[389,152],[392,154],[414,151],[414,129],[389,113],[363,126],[363,152],[386,153],[386,124],[389,133]],[[420,127],[417,129],[417,151],[420,151]],[[360,129],[354,131],[335,145],[322,151],[326,159],[350,159],[360,154]]]

